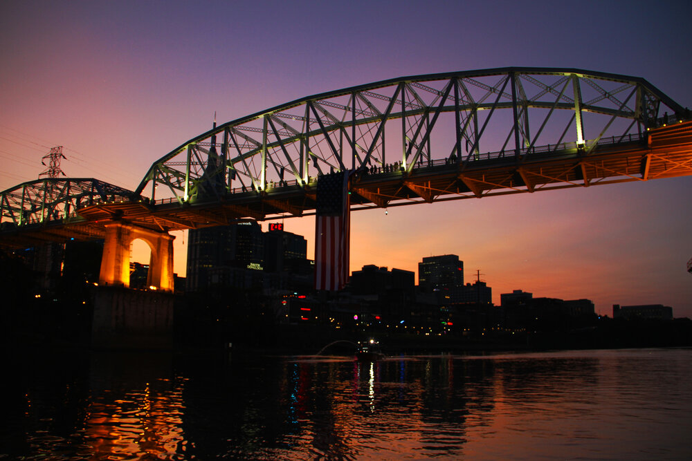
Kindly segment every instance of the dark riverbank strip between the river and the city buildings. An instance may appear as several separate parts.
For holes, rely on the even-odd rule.
[[[73,305],[42,300],[2,311],[3,350],[26,348],[91,348],[89,303]],[[221,321],[222,320],[222,321]],[[576,330],[536,332],[480,331],[444,335],[411,334],[387,329],[334,329],[320,324],[275,324],[266,319],[196,318],[176,312],[173,350],[234,350],[270,354],[316,354],[334,341],[344,342],[325,353],[349,354],[353,343],[376,338],[388,354],[421,352],[496,352],[603,348],[692,346],[692,321],[598,319],[594,326]]]

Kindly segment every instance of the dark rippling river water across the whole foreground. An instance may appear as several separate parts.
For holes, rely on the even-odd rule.
[[[3,368],[7,459],[692,459],[690,348]]]

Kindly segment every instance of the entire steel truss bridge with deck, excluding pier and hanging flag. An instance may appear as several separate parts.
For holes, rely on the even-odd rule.
[[[1,192],[0,245],[313,214],[317,178],[353,169],[352,210],[692,174],[692,115],[639,77],[571,68],[419,75],[220,124],[135,191],[44,179]]]

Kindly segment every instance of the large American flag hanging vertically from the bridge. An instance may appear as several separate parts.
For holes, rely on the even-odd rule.
[[[315,225],[315,288],[340,290],[349,276],[349,174],[345,171],[317,180]]]

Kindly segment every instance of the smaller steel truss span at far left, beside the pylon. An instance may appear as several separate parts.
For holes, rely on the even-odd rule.
[[[78,209],[131,200],[133,192],[93,178],[44,178],[0,192],[3,230],[49,223],[79,223]]]

